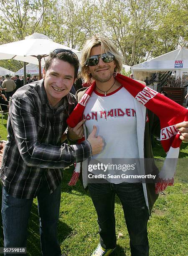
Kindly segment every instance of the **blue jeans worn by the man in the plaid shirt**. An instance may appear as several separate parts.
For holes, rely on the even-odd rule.
[[[59,256],[61,248],[57,240],[57,223],[61,186],[59,185],[52,194],[49,193],[47,186],[43,181],[37,195],[41,251],[43,256]],[[2,219],[5,247],[26,247],[27,225],[32,203],[33,199],[19,199],[9,195],[3,187]]]

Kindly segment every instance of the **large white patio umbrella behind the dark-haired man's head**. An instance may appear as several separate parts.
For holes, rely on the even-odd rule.
[[[48,36],[43,34],[34,33],[31,36],[26,36],[25,40],[0,45],[0,59],[16,59],[38,64],[41,79],[41,64],[44,65],[44,58],[48,56],[51,51],[59,48],[71,50],[76,53],[78,57],[80,56],[80,51],[53,42]]]

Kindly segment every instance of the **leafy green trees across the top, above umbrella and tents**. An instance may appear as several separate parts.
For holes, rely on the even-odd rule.
[[[0,8],[0,44],[39,32],[81,50],[101,33],[130,66],[187,46],[186,0],[0,0]]]

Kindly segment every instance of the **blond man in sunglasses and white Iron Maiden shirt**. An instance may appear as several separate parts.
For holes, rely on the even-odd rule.
[[[150,143],[152,125],[150,124],[153,122],[153,113],[148,111],[147,116],[146,108],[117,81],[120,77],[122,81],[123,79],[127,81],[127,87],[131,86],[131,83],[135,86],[139,85],[135,80],[122,75],[115,77],[114,72],[120,72],[122,63],[123,58],[117,48],[104,36],[94,36],[86,41],[82,49],[81,75],[90,86],[77,92],[79,104],[71,116],[79,114],[82,110],[81,115],[83,113],[86,119],[84,124],[86,134],[91,133],[93,125],[97,126],[98,133],[104,138],[105,147],[91,160],[99,163],[102,159],[104,163],[108,163],[108,159],[117,159],[117,161],[144,157],[152,159]],[[132,90],[136,90],[134,86]],[[150,123],[147,121],[148,118]],[[137,125],[138,122],[140,125]],[[180,138],[188,141],[188,122],[180,123],[177,127],[183,132]],[[83,184],[84,187],[87,185],[89,187],[91,199],[97,211],[100,234],[100,243],[92,256],[109,255],[116,247],[115,194],[119,197],[124,210],[130,236],[131,255],[148,256],[147,221],[149,212],[158,197],[155,194],[155,184],[142,184],[139,179],[130,181],[129,179],[118,180],[111,176],[108,178],[107,172],[102,169],[96,170],[96,166],[95,169],[89,169],[90,165],[87,169],[87,166],[85,161],[82,164]],[[107,171],[111,173],[110,169]],[[96,175],[97,178],[91,182],[90,172],[103,174],[103,179],[97,179]],[[137,172],[135,168],[135,174]]]

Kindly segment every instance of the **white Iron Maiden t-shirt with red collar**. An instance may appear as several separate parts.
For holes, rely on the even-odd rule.
[[[93,125],[96,125],[97,135],[104,139],[103,151],[92,158],[139,158],[134,98],[124,87],[119,87],[107,96],[92,92],[84,109],[84,118],[89,133],[93,130]],[[117,179],[108,180],[120,183]],[[134,179],[132,182],[138,180]]]

